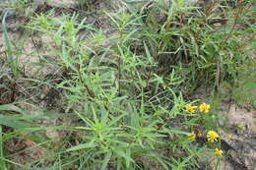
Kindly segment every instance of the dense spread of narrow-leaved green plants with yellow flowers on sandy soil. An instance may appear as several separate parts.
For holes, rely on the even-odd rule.
[[[26,75],[19,60],[23,49],[11,40],[5,13],[1,169],[199,169],[198,160],[206,154],[217,157],[220,168],[225,152],[218,115],[211,98],[203,102],[193,94],[206,86],[213,95],[224,85],[240,89],[242,68],[253,67],[248,55],[255,40],[253,2],[230,6],[229,1],[213,1],[192,7],[184,0],[151,1],[139,9],[135,2],[122,2],[115,13],[114,8],[102,10],[100,15],[109,20],[107,30],[89,24],[80,14],[82,7],[62,14],[49,7],[30,8],[30,15],[24,15],[21,10],[32,3],[15,2],[11,7],[26,19],[23,35],[32,41],[34,36],[47,39],[31,53],[38,62],[27,65],[41,68],[38,76],[45,66],[51,70],[44,77]],[[47,51],[43,54],[41,48]],[[29,86],[21,87],[25,84]],[[58,108],[41,108],[45,86],[52,89],[49,93],[56,92],[47,96],[59,96],[50,100],[61,102]],[[12,99],[5,100],[7,96]],[[30,114],[28,106],[36,114]],[[50,119],[57,123],[40,122]],[[62,136],[50,138],[46,131]],[[11,140],[31,144],[16,153],[6,147]],[[25,163],[14,159],[34,148],[45,153]]]

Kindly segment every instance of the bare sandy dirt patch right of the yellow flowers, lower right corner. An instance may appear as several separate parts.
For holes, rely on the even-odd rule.
[[[255,170],[256,167],[256,111],[224,104],[220,113],[224,125],[220,134],[225,150],[224,165],[229,169]]]

